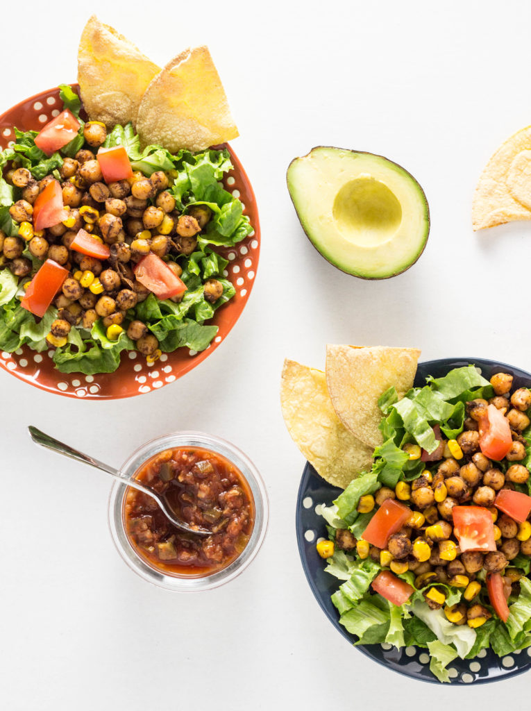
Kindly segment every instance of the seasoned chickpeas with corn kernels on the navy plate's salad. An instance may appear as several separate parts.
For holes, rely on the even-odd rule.
[[[515,484],[525,484],[530,476],[527,467],[519,462],[526,456],[522,432],[530,424],[526,412],[531,407],[531,392],[527,387],[520,387],[511,395],[513,376],[507,373],[493,375],[490,383],[494,397],[466,403],[464,430],[456,440],[445,442],[444,459],[435,464],[433,471],[426,469],[412,483],[399,481],[395,489],[382,486],[374,498],[363,496],[360,499],[360,512],[381,506],[390,498],[411,508],[404,528],[390,537],[387,548],[381,550],[364,540],[356,540],[349,530],[337,530],[335,540],[336,547],[357,552],[361,558],[371,557],[397,574],[411,570],[415,574],[415,586],[423,589],[424,598],[432,609],[444,607],[451,622],[471,627],[480,626],[490,617],[478,599],[481,591],[481,582],[476,579],[478,573],[481,570],[498,572],[503,575],[505,591],[517,592],[522,573],[511,567],[511,561],[519,553],[531,557],[531,523],[528,520],[517,523],[494,507],[498,491],[515,489]],[[490,461],[479,447],[478,422],[486,416],[489,404],[504,413],[513,435],[512,447],[505,457],[508,462],[505,473],[499,463]],[[420,456],[417,445],[406,445],[404,449],[411,459]],[[427,466],[431,465],[427,463]],[[452,509],[473,504],[490,511],[498,550],[482,553],[459,549]],[[463,588],[463,602],[445,605],[446,594],[444,589],[436,588],[437,583]]]

